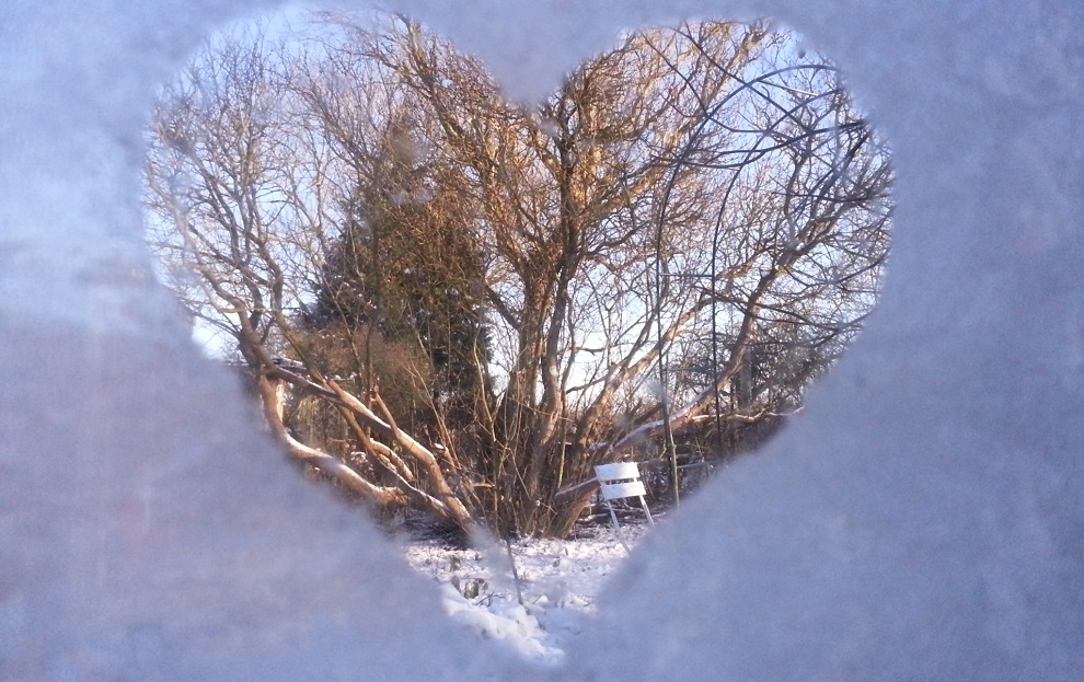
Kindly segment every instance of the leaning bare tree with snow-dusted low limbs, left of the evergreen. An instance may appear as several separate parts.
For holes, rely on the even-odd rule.
[[[336,211],[325,145],[296,108],[290,61],[257,31],[208,46],[163,93],[147,172],[154,245],[193,273],[185,302],[234,338],[268,424],[296,458],[374,505],[412,505],[470,531],[474,520],[434,451],[397,427],[378,393],[349,393],[308,357],[298,311],[312,300]],[[371,464],[296,437],[287,386],[331,404]]]

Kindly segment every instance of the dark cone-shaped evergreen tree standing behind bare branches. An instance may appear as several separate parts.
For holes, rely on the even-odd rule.
[[[355,160],[365,165],[309,325],[339,337],[360,332],[360,362],[348,369],[365,389],[389,390],[383,382],[391,378],[382,377],[389,354],[412,357],[414,394],[396,402],[405,397],[415,408],[400,404],[405,409],[396,414],[435,427],[436,407],[438,417],[462,427],[474,402],[487,400],[483,258],[457,200],[454,173],[426,157],[412,128],[406,118],[390,124],[378,152]]]

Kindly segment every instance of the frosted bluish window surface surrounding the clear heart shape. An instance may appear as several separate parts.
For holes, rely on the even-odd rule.
[[[637,547],[564,669],[517,669],[374,531],[252,465],[280,455],[148,275],[153,88],[267,7],[8,3],[0,679],[1080,679],[1077,2],[395,4],[521,97],[631,25],[799,27],[896,147],[866,332],[764,456]]]

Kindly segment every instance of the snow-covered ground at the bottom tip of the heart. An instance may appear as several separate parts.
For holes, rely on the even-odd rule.
[[[646,523],[622,525],[630,548],[647,532]],[[445,611],[454,622],[508,652],[556,664],[593,616],[603,583],[629,556],[608,525],[584,527],[577,535],[512,542],[519,591],[505,543],[458,550],[425,540],[407,543],[404,551],[416,570],[439,583]]]

